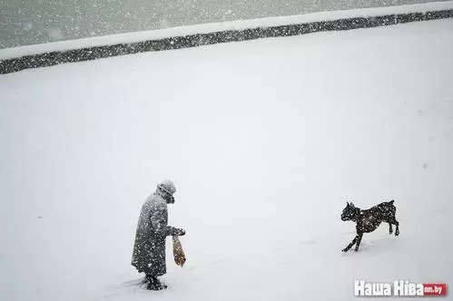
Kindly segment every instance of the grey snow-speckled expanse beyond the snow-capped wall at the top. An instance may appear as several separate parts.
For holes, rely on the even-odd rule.
[[[434,1],[2,0],[0,48],[190,24],[427,2]]]

